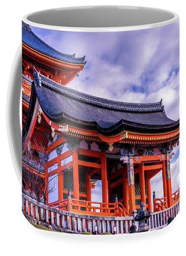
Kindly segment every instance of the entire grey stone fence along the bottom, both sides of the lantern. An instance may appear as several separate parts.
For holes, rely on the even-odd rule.
[[[62,203],[65,203],[65,201]],[[67,207],[67,205],[64,205],[63,207]],[[180,202],[178,201],[168,209],[153,212],[147,220],[149,230],[157,230],[167,226],[170,221],[169,219],[175,218],[179,208]],[[35,199],[24,194],[22,194],[22,211],[29,221],[34,221],[37,224],[66,233],[82,233],[86,231],[95,233],[95,230],[97,230],[98,234],[103,232],[122,234],[129,233],[132,224],[136,225],[137,230],[139,227],[139,222],[134,219],[137,213],[126,217],[84,215],[52,208],[38,203]]]

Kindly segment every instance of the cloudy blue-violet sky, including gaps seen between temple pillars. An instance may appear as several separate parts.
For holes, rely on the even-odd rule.
[[[159,102],[166,115],[179,119],[179,21],[125,32],[65,32],[31,27],[43,41],[66,54],[85,55],[84,70],[68,87],[122,102]],[[179,146],[171,159],[172,192],[179,187]],[[161,172],[151,191],[163,197]],[[92,201],[100,200],[100,186]]]

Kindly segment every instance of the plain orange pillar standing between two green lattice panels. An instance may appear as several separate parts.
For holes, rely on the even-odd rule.
[[[79,174],[78,174],[78,152],[73,146],[73,183],[74,183],[74,199],[79,200]]]

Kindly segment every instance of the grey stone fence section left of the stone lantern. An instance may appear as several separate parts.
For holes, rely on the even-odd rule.
[[[68,212],[38,203],[27,195],[22,195],[22,211],[30,221],[36,221],[54,230],[69,233],[128,233],[134,221],[134,216],[108,217],[83,215]]]

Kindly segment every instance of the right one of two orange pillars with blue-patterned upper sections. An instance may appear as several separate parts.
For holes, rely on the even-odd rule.
[[[172,206],[172,188],[171,188],[170,151],[167,151],[166,153],[165,170],[166,170],[166,186],[167,186],[167,204],[168,204],[168,207],[171,207]]]

